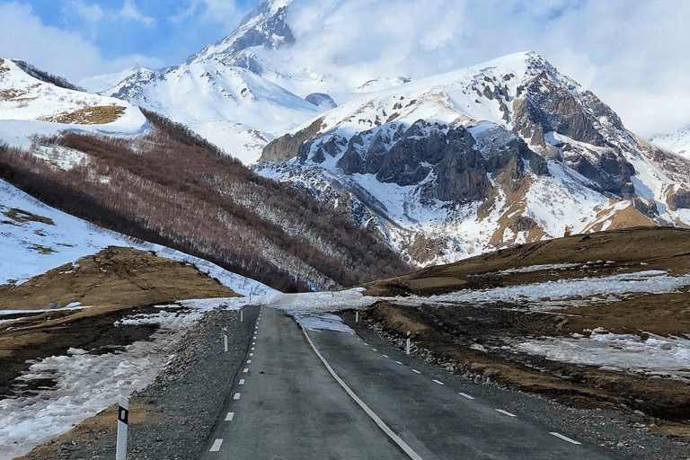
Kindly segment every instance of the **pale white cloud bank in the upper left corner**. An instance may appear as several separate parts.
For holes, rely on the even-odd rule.
[[[106,60],[91,40],[43,24],[31,6],[17,2],[0,3],[0,57],[22,59],[72,82],[136,64],[163,66],[158,58],[136,54]]]

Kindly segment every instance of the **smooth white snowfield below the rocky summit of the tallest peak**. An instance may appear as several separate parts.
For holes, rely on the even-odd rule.
[[[215,59],[140,69],[106,93],[187,125],[243,163],[322,111],[249,69]]]

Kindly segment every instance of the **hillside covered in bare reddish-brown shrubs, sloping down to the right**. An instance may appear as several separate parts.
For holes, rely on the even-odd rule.
[[[0,177],[98,226],[213,261],[280,290],[353,286],[409,270],[367,230],[289,185],[263,179],[188,129],[146,112],[136,140],[42,139],[89,155],[63,171],[0,146]]]

